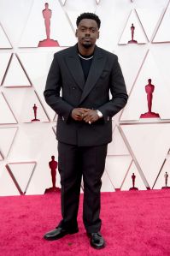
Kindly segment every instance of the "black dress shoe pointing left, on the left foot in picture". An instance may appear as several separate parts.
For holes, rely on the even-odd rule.
[[[75,229],[63,229],[62,227],[57,227],[56,229],[51,230],[50,232],[44,235],[44,239],[46,240],[57,240],[62,238],[67,234],[74,234],[79,232],[78,228]]]

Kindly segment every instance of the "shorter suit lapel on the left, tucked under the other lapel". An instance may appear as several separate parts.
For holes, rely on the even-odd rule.
[[[77,45],[74,45],[72,49],[73,50],[70,52],[69,56],[65,57],[65,61],[76,84],[83,90],[85,86],[85,76],[83,74],[83,69],[81,68]]]

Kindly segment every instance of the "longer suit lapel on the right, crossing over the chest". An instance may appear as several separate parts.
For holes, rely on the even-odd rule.
[[[91,69],[85,82],[84,90],[81,95],[79,104],[81,104],[85,100],[85,98],[91,92],[92,88],[95,86],[99,76],[103,72],[105,62],[106,57],[103,56],[100,49],[96,46],[93,61],[91,63]]]

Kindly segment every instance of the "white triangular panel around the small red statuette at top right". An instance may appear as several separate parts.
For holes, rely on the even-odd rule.
[[[131,27],[135,27],[134,29],[134,40],[137,40],[138,44],[146,44],[148,39],[144,33],[144,28],[141,25],[141,22],[138,19],[137,13],[135,10],[132,10],[129,18],[126,22],[126,27],[120,37],[119,45],[126,45],[128,41],[132,40]]]

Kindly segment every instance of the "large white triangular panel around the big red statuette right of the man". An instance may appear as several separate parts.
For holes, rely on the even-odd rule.
[[[152,112],[159,113],[161,119],[170,118],[170,86],[169,83],[166,83],[164,77],[161,76],[161,71],[158,68],[155,57],[149,51],[132,89],[126,108],[120,118],[121,121],[138,120],[141,114],[148,112],[147,94],[145,92],[148,79],[151,79],[151,83],[155,86],[152,99]]]

